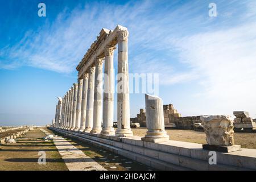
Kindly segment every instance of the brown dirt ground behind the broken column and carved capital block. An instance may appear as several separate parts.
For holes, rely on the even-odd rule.
[[[147,129],[132,129],[133,134],[139,137],[144,137]],[[177,140],[182,142],[193,143],[207,143],[205,140],[204,131],[195,130],[172,130],[166,129],[167,134],[171,140]],[[235,144],[240,144],[243,148],[255,148],[256,149],[256,133],[234,133]]]

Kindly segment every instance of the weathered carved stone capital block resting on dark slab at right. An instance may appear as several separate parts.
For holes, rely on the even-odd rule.
[[[213,146],[234,144],[233,121],[228,115],[201,116],[207,143]]]

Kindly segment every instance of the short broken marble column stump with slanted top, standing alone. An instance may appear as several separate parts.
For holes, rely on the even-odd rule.
[[[145,94],[147,134],[143,141],[166,142],[169,136],[164,130],[163,101],[157,96]]]

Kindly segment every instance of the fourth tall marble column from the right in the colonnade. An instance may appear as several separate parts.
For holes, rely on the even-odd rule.
[[[89,72],[87,103],[86,103],[85,132],[89,132],[90,130],[92,130],[92,125],[93,125],[94,76],[95,76],[95,66],[91,67],[90,72]]]

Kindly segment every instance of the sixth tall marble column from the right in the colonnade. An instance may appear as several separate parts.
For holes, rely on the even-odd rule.
[[[82,79],[78,79],[77,104],[76,104],[76,127],[75,131],[79,131],[81,125],[81,105],[82,105]]]

